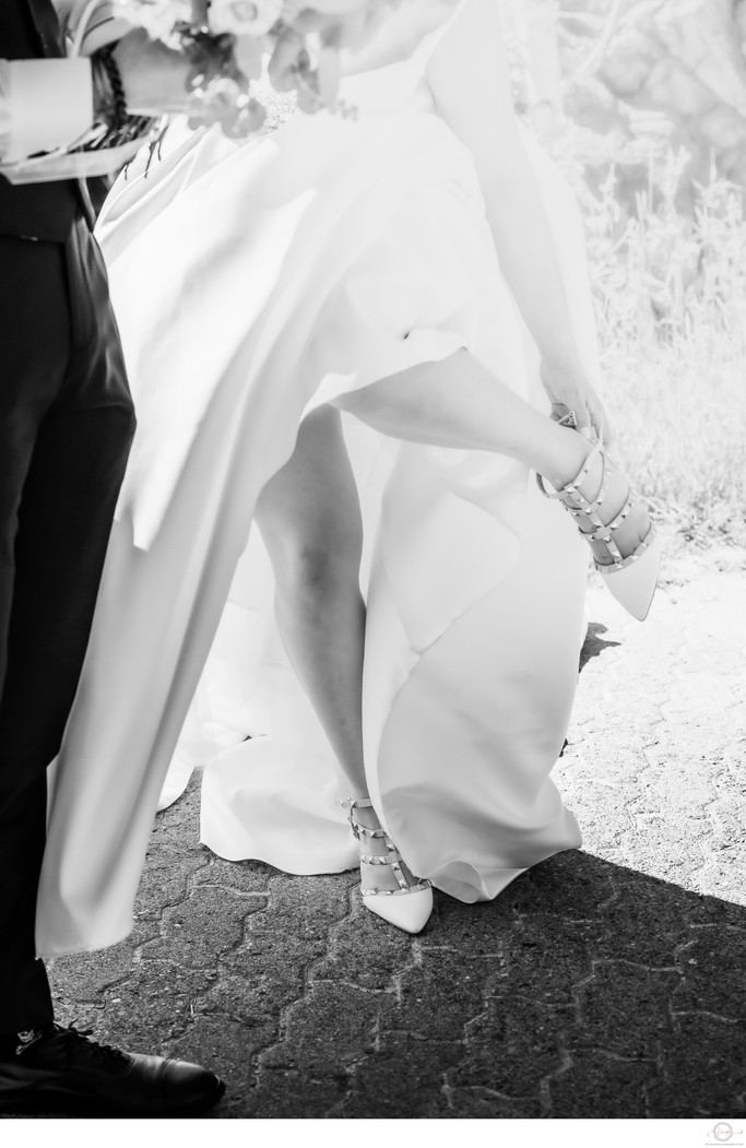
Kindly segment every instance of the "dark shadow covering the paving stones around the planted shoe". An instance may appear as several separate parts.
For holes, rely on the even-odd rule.
[[[352,874],[174,848],[196,796],[161,819],[131,941],[53,977],[68,1019],[219,1068],[213,1118],[744,1111],[745,909],[569,852],[491,903],[438,894],[410,938]]]

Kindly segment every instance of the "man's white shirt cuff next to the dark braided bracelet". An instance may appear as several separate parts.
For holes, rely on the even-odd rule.
[[[3,161],[67,147],[91,126],[90,60],[13,60],[6,67],[8,134]]]

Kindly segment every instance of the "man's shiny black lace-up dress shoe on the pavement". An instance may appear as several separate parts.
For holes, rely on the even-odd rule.
[[[0,1112],[196,1116],[224,1092],[219,1077],[199,1064],[119,1052],[59,1024],[0,1061]]]

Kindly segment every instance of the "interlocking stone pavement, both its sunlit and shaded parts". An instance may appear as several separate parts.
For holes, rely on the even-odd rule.
[[[600,588],[557,779],[581,851],[418,938],[355,874],[228,864],[196,782],[158,819],[132,937],[53,962],[64,1021],[217,1066],[209,1118],[746,1111],[746,573],[648,621]]]

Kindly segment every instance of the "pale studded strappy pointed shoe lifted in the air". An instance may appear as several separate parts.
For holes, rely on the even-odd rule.
[[[574,417],[561,420],[561,425],[574,427]],[[597,458],[601,460],[601,478],[598,494],[592,501],[581,494],[580,487],[588,478]],[[580,533],[588,543],[601,542],[606,548],[606,553],[598,558],[593,554],[593,566],[603,575],[606,585],[616,600],[627,610],[632,618],[640,622],[645,621],[658,585],[658,571],[660,568],[662,541],[658,534],[655,522],[650,519],[650,530],[635,548],[624,556],[622,554],[614,532],[622,525],[632,507],[637,504],[638,497],[627,482],[627,496],[624,504],[612,520],[605,522],[601,518],[601,506],[606,502],[614,472],[622,474],[620,467],[614,463],[601,443],[596,443],[593,450],[585,459],[578,474],[562,487],[561,490],[546,488],[544,479],[537,475],[537,482],[542,494],[547,498],[559,498],[565,510],[576,520]],[[622,478],[624,478],[622,475]],[[650,517],[650,515],[648,515]],[[581,522],[586,523],[584,529]]]

